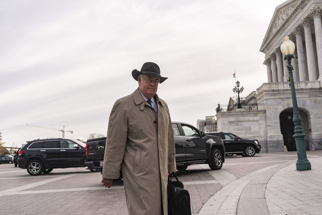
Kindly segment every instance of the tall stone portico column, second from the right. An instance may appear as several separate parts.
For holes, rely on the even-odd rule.
[[[308,80],[315,81],[318,79],[318,75],[317,75],[317,68],[315,64],[315,56],[314,56],[314,49],[313,49],[311,21],[308,18],[305,18],[302,20],[302,24],[304,26],[304,35],[305,35]]]

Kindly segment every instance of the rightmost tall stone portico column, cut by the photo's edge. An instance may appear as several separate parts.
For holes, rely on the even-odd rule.
[[[311,15],[314,20],[315,28],[315,41],[317,43],[317,55],[318,55],[318,67],[319,67],[319,79],[322,79],[322,24],[321,24],[321,11],[320,7],[313,8]]]

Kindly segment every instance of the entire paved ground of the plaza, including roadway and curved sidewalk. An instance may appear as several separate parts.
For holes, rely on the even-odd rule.
[[[306,151],[312,170],[297,171],[293,152],[226,157],[221,170],[177,172],[193,215],[321,215],[322,150]],[[0,165],[0,215],[127,215],[122,181],[112,188],[85,168],[30,176]]]

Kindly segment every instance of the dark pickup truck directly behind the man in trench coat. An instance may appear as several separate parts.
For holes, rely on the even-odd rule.
[[[177,170],[186,170],[192,164],[208,164],[211,170],[220,170],[225,148],[220,137],[181,122],[172,122],[176,146]],[[102,171],[106,137],[89,139],[86,143],[85,165]]]

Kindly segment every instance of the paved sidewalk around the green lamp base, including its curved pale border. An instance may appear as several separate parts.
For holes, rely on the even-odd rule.
[[[322,157],[309,161],[312,170],[287,161],[233,180],[198,215],[322,215]]]

